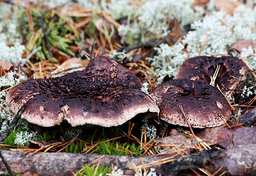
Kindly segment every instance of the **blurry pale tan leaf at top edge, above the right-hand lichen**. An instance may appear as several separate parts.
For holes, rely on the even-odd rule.
[[[219,10],[232,14],[238,5],[241,5],[241,2],[235,2],[231,0],[216,0],[215,7]]]

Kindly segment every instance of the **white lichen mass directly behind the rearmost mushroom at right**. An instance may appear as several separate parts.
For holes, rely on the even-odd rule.
[[[157,84],[166,75],[176,76],[180,65],[187,58],[227,54],[227,49],[239,39],[256,42],[255,24],[256,7],[245,5],[237,7],[233,15],[213,11],[206,14],[204,19],[194,21],[191,24],[192,30],[183,37],[182,43],[175,43],[173,46],[161,44],[156,47],[156,56],[147,58],[156,68]],[[185,45],[186,51],[183,47]],[[241,56],[255,70],[256,49],[242,49]]]

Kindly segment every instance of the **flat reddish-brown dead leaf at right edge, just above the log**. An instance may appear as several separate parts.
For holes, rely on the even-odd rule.
[[[256,128],[239,127],[230,130],[223,128],[218,133],[218,144],[224,148],[256,144]]]

